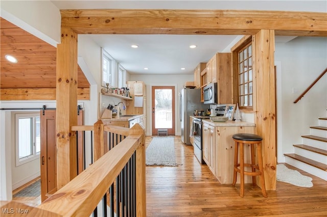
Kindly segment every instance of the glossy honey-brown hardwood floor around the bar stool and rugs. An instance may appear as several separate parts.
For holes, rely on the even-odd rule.
[[[146,137],[146,144],[151,142]],[[239,185],[220,184],[206,165],[200,165],[193,147],[175,137],[178,167],[147,167],[147,216],[326,216],[327,182],[313,178],[313,187],[278,182],[276,191],[246,184],[241,198]],[[290,169],[292,166],[286,165]]]

